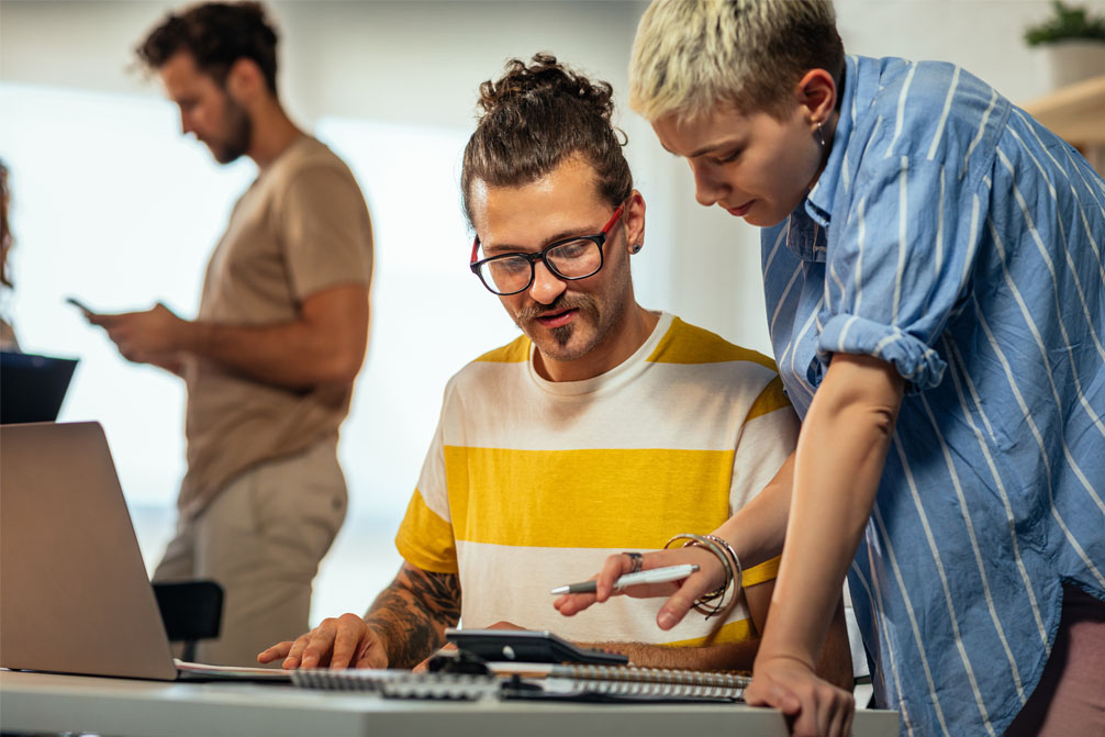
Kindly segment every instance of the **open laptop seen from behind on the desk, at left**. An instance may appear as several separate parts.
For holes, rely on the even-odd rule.
[[[0,427],[0,666],[288,680],[278,670],[173,660],[97,422]]]

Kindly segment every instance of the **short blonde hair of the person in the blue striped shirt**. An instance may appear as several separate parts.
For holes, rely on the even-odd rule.
[[[688,120],[718,104],[782,117],[811,69],[840,86],[830,0],[653,0],[633,41],[629,104],[649,120]]]

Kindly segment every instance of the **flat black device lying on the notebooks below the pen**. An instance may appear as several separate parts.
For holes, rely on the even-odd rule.
[[[579,647],[551,632],[534,630],[445,630],[445,640],[485,661],[519,663],[587,663],[624,665],[629,657],[606,650]]]

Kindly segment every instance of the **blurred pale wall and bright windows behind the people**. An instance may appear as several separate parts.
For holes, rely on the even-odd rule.
[[[177,3],[0,2],[0,158],[11,170],[15,289],[2,309],[25,351],[80,357],[61,420],[106,429],[151,569],[183,473],[183,387],[125,361],[64,304],[157,301],[196,313],[207,256],[249,160],[220,167],[180,136],[176,107],[133,67],[134,44]],[[1105,2],[1082,3],[1094,12]],[[517,334],[466,267],[461,151],[481,82],[549,51],[614,85],[648,203],[638,297],[770,354],[758,234],[695,203],[684,164],[624,105],[645,2],[621,0],[269,3],[282,34],[286,109],[354,169],[373,217],[369,352],[344,425],[350,514],[316,582],[312,622],[364,611],[398,569],[392,537],[418,478],[448,378]],[[1023,41],[1046,0],[840,0],[850,53],[961,64],[1014,103],[1050,92]],[[524,493],[524,489],[519,489]]]

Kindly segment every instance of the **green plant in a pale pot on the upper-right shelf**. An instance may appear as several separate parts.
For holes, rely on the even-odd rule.
[[[1044,50],[1052,86],[1105,74],[1105,15],[1062,0],[1054,0],[1052,9],[1051,18],[1024,31],[1030,46]]]

